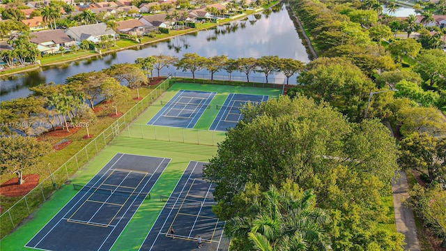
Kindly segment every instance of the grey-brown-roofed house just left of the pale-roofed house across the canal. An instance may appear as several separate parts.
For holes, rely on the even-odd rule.
[[[68,48],[76,44],[61,29],[32,32],[29,34],[29,38],[31,43],[37,45],[41,54],[59,52],[60,47]]]

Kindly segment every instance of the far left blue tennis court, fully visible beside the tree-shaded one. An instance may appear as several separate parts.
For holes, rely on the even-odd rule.
[[[194,128],[209,107],[215,92],[180,90],[148,121],[147,125]]]

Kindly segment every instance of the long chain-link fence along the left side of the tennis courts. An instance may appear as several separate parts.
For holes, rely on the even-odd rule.
[[[114,137],[120,135],[136,117],[162,95],[174,84],[171,77],[168,77],[157,88],[153,89],[148,96],[141,99],[137,104],[128,110],[123,116],[114,121],[111,126],[102,131],[98,136],[89,142],[84,148],[67,160],[61,167],[51,169],[48,166],[47,178],[40,179],[41,182],[28,192],[22,199],[8,208],[0,215],[0,238],[3,238],[19,225],[24,218],[30,215],[34,209],[50,197],[63,183],[70,179],[70,176],[77,172],[86,162],[89,162],[98,154]],[[42,175],[42,174],[40,174]]]

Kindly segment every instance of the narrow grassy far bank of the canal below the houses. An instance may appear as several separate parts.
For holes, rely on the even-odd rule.
[[[272,8],[273,6],[276,6],[277,4],[280,4],[280,3],[282,3],[282,1],[278,1],[277,3],[273,4],[272,6],[269,6],[268,8]],[[266,9],[268,9],[268,8],[262,8],[262,9],[259,10],[258,12],[262,12],[263,10],[266,10]],[[217,22],[217,23],[213,24],[212,26],[208,26],[208,27],[206,27],[206,28],[194,29],[194,30],[187,31],[187,32],[184,32],[184,33],[179,33],[179,34],[175,34],[175,35],[172,35],[172,36],[167,36],[167,37],[165,37],[165,38],[157,38],[157,39],[155,39],[155,40],[147,41],[147,42],[145,42],[145,43],[139,43],[139,44],[130,45],[130,46],[127,46],[127,47],[120,47],[120,48],[118,48],[118,49],[115,49],[115,50],[109,50],[109,51],[107,51],[107,52],[96,53],[96,54],[91,54],[91,55],[87,55],[87,56],[80,56],[80,57],[75,58],[75,59],[68,59],[68,60],[63,60],[63,61],[57,61],[57,62],[54,62],[54,63],[45,63],[45,64],[40,64],[40,65],[39,65],[39,64],[36,64],[36,67],[33,67],[33,68],[27,68],[27,69],[23,69],[23,70],[19,70],[19,71],[16,71],[16,72],[14,72],[14,73],[5,73],[5,74],[1,74],[1,72],[0,72],[0,78],[3,78],[3,77],[10,77],[10,76],[13,76],[13,75],[16,75],[16,74],[20,74],[20,73],[31,72],[31,71],[33,71],[33,70],[42,69],[42,68],[45,67],[45,66],[57,66],[57,65],[61,65],[61,64],[63,64],[63,63],[71,63],[71,62],[73,62],[73,61],[79,61],[79,60],[82,60],[82,59],[89,59],[89,58],[92,58],[92,57],[95,57],[95,56],[106,55],[106,54],[110,54],[110,53],[113,53],[113,52],[120,52],[120,51],[122,51],[122,50],[128,50],[128,49],[131,49],[131,48],[133,48],[133,47],[138,47],[138,46],[141,46],[141,45],[148,45],[148,44],[151,44],[151,43],[161,42],[161,41],[163,41],[163,40],[167,40],[167,39],[171,39],[171,38],[176,38],[177,36],[183,36],[183,35],[186,35],[186,34],[189,34],[189,33],[194,33],[194,32],[198,32],[198,31],[203,31],[203,30],[206,30],[206,29],[210,29],[210,28],[213,28],[213,27],[215,27],[215,26],[219,26],[220,24],[226,24],[226,23],[233,22],[233,21],[236,21],[236,20],[242,20],[243,18],[245,18],[245,17],[247,17],[247,16],[249,16],[249,15],[253,15],[254,13],[258,13],[258,12],[255,11],[255,10],[253,10],[253,12],[250,13],[250,14],[246,14],[246,13],[244,13],[243,15],[240,15],[240,16],[238,16],[237,18],[234,18],[233,20],[228,20],[228,21],[221,22],[221,23],[220,23],[220,22]]]

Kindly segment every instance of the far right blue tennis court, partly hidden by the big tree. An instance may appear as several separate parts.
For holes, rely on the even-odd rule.
[[[219,108],[220,111],[215,117],[209,130],[225,131],[229,128],[234,128],[238,121],[243,119],[243,114],[240,113],[240,107],[247,103],[253,105],[260,102],[267,101],[268,96],[265,95],[252,95],[252,94],[237,94],[231,93],[224,101],[224,104]]]

